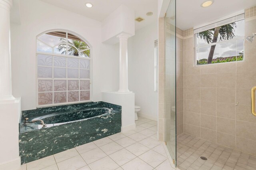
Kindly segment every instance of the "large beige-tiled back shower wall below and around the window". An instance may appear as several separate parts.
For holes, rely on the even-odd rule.
[[[246,10],[245,36],[256,32],[254,11],[255,7]],[[184,132],[256,155],[256,117],[250,111],[250,91],[256,86],[256,40],[245,41],[245,61],[195,66],[192,31],[186,36]]]

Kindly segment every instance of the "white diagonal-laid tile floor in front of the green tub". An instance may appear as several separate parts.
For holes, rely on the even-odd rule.
[[[156,132],[156,121],[139,117],[135,130],[23,164],[21,170],[172,170]]]

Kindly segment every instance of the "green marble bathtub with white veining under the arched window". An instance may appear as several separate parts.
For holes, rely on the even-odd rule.
[[[108,109],[113,108],[111,113]],[[24,125],[28,121],[40,122]],[[19,146],[22,164],[110,136],[121,131],[121,106],[79,103],[22,111]]]

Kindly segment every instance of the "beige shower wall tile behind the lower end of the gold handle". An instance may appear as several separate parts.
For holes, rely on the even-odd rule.
[[[251,113],[251,105],[236,106],[236,120],[256,123],[256,117]]]

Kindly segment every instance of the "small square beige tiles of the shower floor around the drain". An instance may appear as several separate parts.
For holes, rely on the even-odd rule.
[[[256,170],[256,156],[182,133],[177,137],[177,166],[180,170]]]

